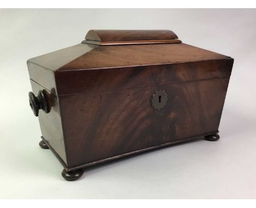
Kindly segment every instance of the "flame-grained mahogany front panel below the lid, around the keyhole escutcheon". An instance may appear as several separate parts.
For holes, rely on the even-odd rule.
[[[218,130],[229,78],[61,96],[68,167]],[[166,106],[153,109],[156,90]]]

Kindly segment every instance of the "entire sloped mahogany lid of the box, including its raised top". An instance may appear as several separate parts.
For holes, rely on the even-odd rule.
[[[57,96],[230,76],[232,58],[170,44],[177,38],[171,30],[90,30],[92,42],[29,59],[28,71]]]

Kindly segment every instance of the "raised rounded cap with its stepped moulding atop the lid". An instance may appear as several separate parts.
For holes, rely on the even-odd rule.
[[[171,30],[111,30],[91,29],[83,43],[95,45],[180,43]]]

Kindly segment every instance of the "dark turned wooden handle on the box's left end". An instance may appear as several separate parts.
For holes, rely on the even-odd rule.
[[[45,113],[50,112],[48,102],[46,99],[47,94],[46,94],[45,90],[39,90],[37,97],[34,95],[34,93],[32,93],[32,91],[30,91],[28,93],[28,97],[29,97],[29,101],[30,101],[30,107],[31,107],[34,115],[36,115],[36,117],[38,117],[39,109],[42,109],[43,112],[45,112]]]

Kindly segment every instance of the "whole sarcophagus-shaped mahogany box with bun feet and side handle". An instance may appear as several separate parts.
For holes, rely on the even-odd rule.
[[[90,30],[29,59],[44,149],[75,180],[83,168],[196,137],[218,140],[234,59],[171,30]]]

